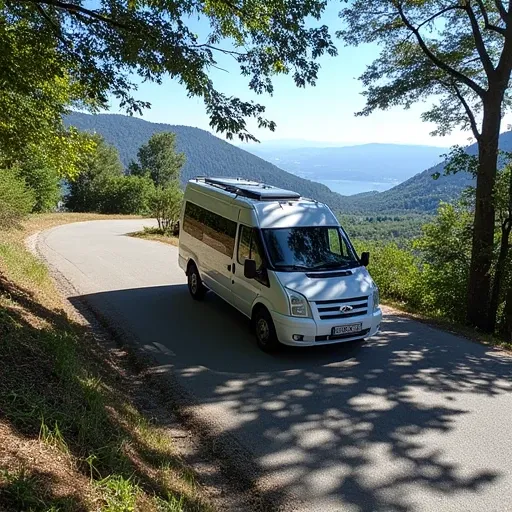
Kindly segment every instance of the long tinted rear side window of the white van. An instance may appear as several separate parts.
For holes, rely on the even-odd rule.
[[[183,230],[212,249],[233,256],[236,222],[187,201]]]

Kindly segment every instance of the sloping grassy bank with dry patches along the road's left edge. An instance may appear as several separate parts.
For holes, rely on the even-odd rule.
[[[25,247],[36,231],[98,218],[40,215],[0,232],[0,508],[211,510],[165,429],[135,405],[129,372]]]

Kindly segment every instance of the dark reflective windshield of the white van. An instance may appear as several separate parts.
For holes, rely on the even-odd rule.
[[[337,226],[263,229],[272,265],[277,270],[332,270],[360,263]]]

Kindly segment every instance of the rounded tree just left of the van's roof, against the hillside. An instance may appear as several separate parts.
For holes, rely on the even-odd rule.
[[[147,144],[137,152],[138,162],[130,164],[130,173],[136,176],[149,176],[156,187],[166,187],[180,179],[180,171],[185,163],[184,153],[176,153],[176,134],[155,133]]]

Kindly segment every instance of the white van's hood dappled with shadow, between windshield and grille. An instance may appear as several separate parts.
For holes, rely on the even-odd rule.
[[[368,296],[373,292],[375,283],[365,267],[350,269],[351,275],[328,277],[335,272],[311,273],[308,277],[304,272],[276,272],[283,286],[299,292],[309,301],[351,299]]]

